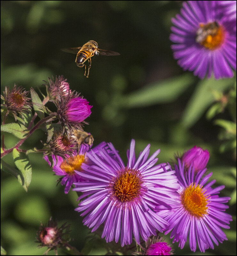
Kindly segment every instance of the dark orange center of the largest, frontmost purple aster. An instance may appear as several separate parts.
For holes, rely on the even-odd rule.
[[[121,202],[133,201],[141,194],[143,176],[138,170],[125,168],[113,181],[113,195]]]

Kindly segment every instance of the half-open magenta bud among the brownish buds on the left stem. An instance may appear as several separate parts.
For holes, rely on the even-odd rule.
[[[90,114],[92,106],[89,102],[82,97],[72,98],[66,105],[67,107],[67,119],[70,122],[80,123],[84,121]]]

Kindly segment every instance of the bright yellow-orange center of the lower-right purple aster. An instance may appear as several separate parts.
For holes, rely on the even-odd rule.
[[[207,197],[203,187],[195,186],[193,183],[181,193],[181,201],[185,209],[198,218],[207,214]]]

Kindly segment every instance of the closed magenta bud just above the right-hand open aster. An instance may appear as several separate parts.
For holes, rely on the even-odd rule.
[[[194,146],[188,151],[184,152],[181,157],[181,162],[185,163],[185,169],[188,170],[192,165],[195,169],[195,174],[206,168],[209,161],[210,154],[208,150],[203,150],[200,147]]]

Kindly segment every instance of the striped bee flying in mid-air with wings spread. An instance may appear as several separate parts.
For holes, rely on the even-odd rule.
[[[91,57],[94,55],[106,55],[106,56],[112,56],[112,55],[120,55],[118,52],[111,51],[111,50],[103,50],[98,48],[98,43],[94,40],[90,40],[87,43],[85,43],[81,47],[73,47],[73,48],[67,48],[63,49],[65,52],[69,53],[76,53],[76,64],[78,67],[84,67],[85,66],[85,74],[86,75],[86,61],[88,60],[88,71],[87,71],[87,77],[89,76],[89,70],[91,67]]]

